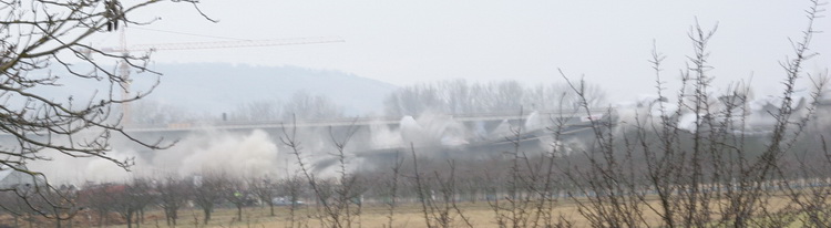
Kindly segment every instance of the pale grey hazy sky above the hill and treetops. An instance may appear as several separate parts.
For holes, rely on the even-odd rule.
[[[647,60],[653,41],[667,55],[666,81],[678,77],[691,44],[696,17],[705,28],[718,22],[710,43],[710,73],[718,83],[747,80],[757,91],[774,91],[807,25],[809,2],[780,1],[276,1],[211,0],[201,4],[218,23],[188,4],[164,3],[134,20],[161,17],[127,29],[127,43],[226,41],[152,30],[234,39],[339,35],[343,43],[224,50],[160,51],[157,62],[230,62],[340,70],[397,85],[468,79],[557,82],[557,69],[599,83],[613,100],[654,91]],[[831,31],[831,18],[815,29]],[[819,34],[813,50],[831,54],[831,38]],[[96,35],[93,45],[114,45],[117,33]],[[808,71],[831,65],[819,56]],[[245,80],[245,75],[236,75]],[[163,82],[164,83],[164,82]]]

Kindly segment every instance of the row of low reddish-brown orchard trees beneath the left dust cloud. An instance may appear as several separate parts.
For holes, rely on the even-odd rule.
[[[0,215],[10,215],[16,226],[23,218],[44,226],[47,221],[38,217],[45,216],[53,218],[57,227],[64,220],[88,226],[124,222],[132,227],[144,222],[145,211],[161,210],[166,224],[176,226],[182,209],[199,208],[202,222],[208,224],[215,208],[230,206],[237,209],[235,220],[243,221],[244,207],[268,206],[270,215],[275,216],[275,203],[280,204],[276,198],[297,203],[305,188],[297,178],[243,178],[220,172],[187,178],[135,178],[126,183],[88,183],[80,187],[64,185],[54,189],[0,193],[3,201]]]

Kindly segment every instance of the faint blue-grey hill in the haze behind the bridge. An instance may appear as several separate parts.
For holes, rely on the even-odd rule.
[[[252,66],[225,63],[154,64],[161,84],[147,97],[187,112],[219,114],[239,104],[286,101],[297,91],[329,96],[348,115],[382,113],[383,97],[394,85],[340,71],[299,66]],[[133,76],[133,86],[146,89],[155,76]]]

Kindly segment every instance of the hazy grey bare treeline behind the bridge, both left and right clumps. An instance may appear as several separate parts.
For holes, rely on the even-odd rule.
[[[597,84],[586,84],[587,103],[592,107],[606,105],[606,94]],[[581,97],[570,91],[567,84],[526,86],[517,81],[471,83],[464,80],[418,84],[390,93],[383,103],[388,116],[421,115],[424,113],[476,114],[502,113],[520,107],[557,110],[579,107]],[[562,105],[562,106],[561,106]],[[216,120],[216,116],[198,116],[176,107],[150,101],[138,102],[134,107],[135,124],[171,124]],[[301,120],[332,120],[346,117],[345,108],[324,95],[296,92],[286,101],[258,101],[245,103],[223,114],[223,121],[234,122],[288,122],[295,116]]]

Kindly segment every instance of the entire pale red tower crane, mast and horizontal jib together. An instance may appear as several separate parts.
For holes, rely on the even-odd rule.
[[[345,42],[343,39],[338,37],[312,37],[312,38],[291,38],[291,39],[276,39],[276,40],[237,40],[237,41],[217,41],[217,42],[189,42],[189,43],[156,43],[156,44],[138,44],[138,45],[126,45],[124,29],[121,30],[121,46],[117,48],[100,48],[101,52],[113,52],[121,53],[123,56],[130,55],[130,52],[153,52],[162,50],[197,50],[197,49],[236,49],[236,48],[254,48],[254,46],[276,46],[276,45],[301,45],[301,44],[317,44],[317,43],[337,43]],[[90,50],[85,51],[90,54]],[[123,79],[121,82],[121,99],[130,99],[130,64],[126,61],[119,62],[119,75]],[[122,103],[122,124],[130,125],[130,103]]]

